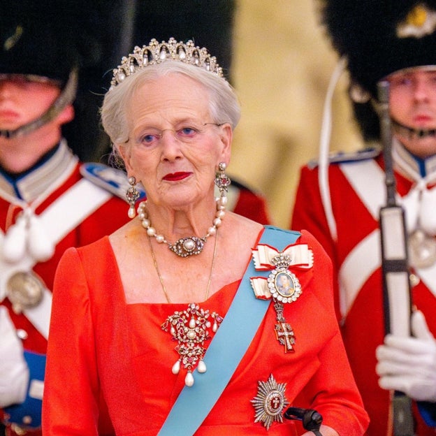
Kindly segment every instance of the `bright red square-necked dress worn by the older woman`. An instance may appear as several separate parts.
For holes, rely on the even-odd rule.
[[[312,247],[315,260],[313,268],[296,273],[303,293],[284,309],[286,322],[295,332],[296,351],[285,353],[277,342],[276,314],[270,305],[247,353],[196,435],[303,433],[301,429],[297,433],[294,421],[273,422],[269,431],[261,422],[254,423],[251,400],[258,393],[258,382],[266,382],[271,374],[277,383],[286,384],[284,395],[291,405],[317,409],[324,423],[341,435],[363,435],[368,416],[335,319],[330,261],[311,235],[303,234],[298,242]],[[200,307],[225,317],[238,285],[229,283]],[[126,304],[108,238],[69,249],[59,263],[54,286],[44,435],[96,435],[101,393],[117,435],[157,435],[186,375],[184,368],[178,375],[171,372],[178,354],[161,325],[175,311],[186,310],[187,304]],[[240,319],[235,328],[243,324]]]

